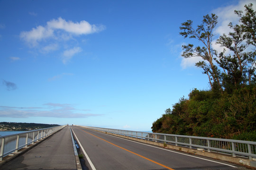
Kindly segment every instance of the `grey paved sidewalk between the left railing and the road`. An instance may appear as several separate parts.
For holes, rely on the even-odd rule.
[[[69,126],[0,166],[0,170],[76,170]]]

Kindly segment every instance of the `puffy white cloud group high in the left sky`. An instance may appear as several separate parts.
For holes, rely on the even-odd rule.
[[[61,51],[59,54],[62,56],[62,62],[66,64],[76,54],[82,51],[81,47],[79,47],[77,37],[98,33],[104,29],[105,26],[103,25],[96,26],[85,20],[73,22],[59,17],[46,22],[45,26],[39,25],[30,31],[22,31],[19,36],[21,40],[27,42],[30,48],[38,50],[41,53],[59,52],[58,50],[65,49],[65,51]],[[76,46],[67,45],[73,44],[72,42],[75,42]]]

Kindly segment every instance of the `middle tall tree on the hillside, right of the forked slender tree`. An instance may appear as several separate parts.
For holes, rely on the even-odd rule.
[[[225,88],[228,88],[227,85],[229,85],[231,89],[238,89],[240,86],[243,87],[247,82],[246,66],[248,55],[244,51],[247,49],[248,44],[243,43],[246,35],[242,26],[233,26],[232,23],[229,23],[229,28],[232,29],[232,32],[229,32],[229,35],[221,35],[217,43],[229,49],[233,55],[229,54],[225,56],[224,53],[226,50],[224,50],[219,54],[216,61],[224,70],[222,75],[223,83],[226,85]]]

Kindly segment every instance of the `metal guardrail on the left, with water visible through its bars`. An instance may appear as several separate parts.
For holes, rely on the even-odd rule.
[[[50,136],[56,131],[62,129],[64,126],[49,127],[38,130],[31,130],[13,135],[0,136],[0,161],[3,157],[10,153],[18,153],[18,150],[27,147],[29,144],[34,144],[41,138]]]

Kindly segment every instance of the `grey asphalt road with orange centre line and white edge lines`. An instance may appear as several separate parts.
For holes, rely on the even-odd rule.
[[[72,126],[72,129],[94,170],[245,169],[229,162],[130,141],[82,127]]]

